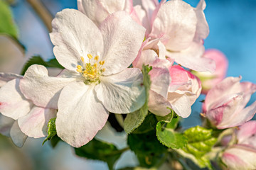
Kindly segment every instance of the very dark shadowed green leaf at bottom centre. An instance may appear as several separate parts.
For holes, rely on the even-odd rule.
[[[167,148],[156,138],[156,131],[151,130],[142,134],[131,133],[127,139],[130,149],[137,155],[139,165],[151,168],[165,159]]]

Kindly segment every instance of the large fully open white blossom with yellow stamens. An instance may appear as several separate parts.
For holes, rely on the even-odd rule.
[[[145,101],[142,72],[127,69],[137,56],[144,28],[124,11],[112,13],[99,28],[75,9],[53,19],[53,52],[66,77],[48,77],[33,65],[21,80],[21,91],[38,106],[58,108],[57,135],[81,147],[105,125],[109,111],[131,113]]]

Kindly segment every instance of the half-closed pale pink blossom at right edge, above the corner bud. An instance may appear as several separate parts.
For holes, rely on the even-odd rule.
[[[256,84],[240,83],[241,77],[228,77],[206,95],[203,113],[218,129],[235,127],[250,120],[256,113],[256,101],[246,106],[256,91]]]

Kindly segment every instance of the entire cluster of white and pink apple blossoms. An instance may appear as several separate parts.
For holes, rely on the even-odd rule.
[[[50,40],[65,69],[56,77],[38,64],[24,76],[1,73],[0,132],[22,147],[26,137],[47,136],[48,121],[56,118],[61,140],[86,145],[110,113],[144,106],[142,67],[149,65],[150,113],[164,117],[171,109],[187,118],[198,96],[207,94],[201,115],[210,127],[241,125],[233,132],[235,142],[227,136],[220,158],[230,169],[255,169],[256,124],[246,122],[256,113],[256,101],[245,106],[256,84],[224,79],[225,56],[205,51],[205,8],[204,0],[196,8],[181,0],[78,0],[78,10],[58,12]]]

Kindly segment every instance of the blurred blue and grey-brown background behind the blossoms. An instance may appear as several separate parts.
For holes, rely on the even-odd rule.
[[[186,0],[191,6],[196,6],[199,0]],[[77,8],[76,0],[42,0],[50,13],[63,8]],[[242,76],[242,81],[256,83],[256,1],[255,0],[206,0],[206,19],[210,27],[210,35],[205,40],[206,49],[215,48],[228,57],[227,76]],[[25,0],[17,0],[11,6],[14,20],[18,26],[18,40],[26,47],[25,54],[11,50],[9,56],[20,55],[17,59],[15,72],[21,69],[24,58],[28,60],[33,55],[41,55],[43,59],[53,58],[53,45],[50,42],[48,30],[33,8]],[[0,21],[1,24],[1,21]],[[6,49],[0,39],[0,50]],[[1,53],[1,52],[0,52]],[[0,54],[1,55],[1,54]],[[1,66],[0,69],[3,69]],[[193,113],[183,120],[183,127],[200,124],[201,98],[193,106]],[[252,96],[252,101],[256,95]],[[249,104],[250,104],[249,103]],[[119,148],[125,147],[125,134],[116,134],[106,126],[99,132],[98,138],[108,138]],[[109,130],[109,132],[106,132]],[[41,145],[43,139],[29,139],[19,149],[11,141],[0,135],[0,170],[18,169],[107,169],[104,162],[96,162],[76,157],[69,145],[60,142],[54,149]],[[122,155],[116,167],[136,164],[131,152]]]

